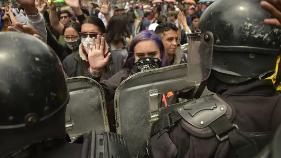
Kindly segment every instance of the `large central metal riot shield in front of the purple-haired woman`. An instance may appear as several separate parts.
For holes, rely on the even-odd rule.
[[[136,156],[159,117],[158,94],[195,87],[187,82],[187,64],[136,73],[115,91],[117,133],[124,136],[131,156]]]

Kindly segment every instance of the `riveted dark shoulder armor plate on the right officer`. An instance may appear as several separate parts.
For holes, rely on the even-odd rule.
[[[205,128],[226,113],[227,106],[208,95],[178,107],[179,115],[197,128]]]

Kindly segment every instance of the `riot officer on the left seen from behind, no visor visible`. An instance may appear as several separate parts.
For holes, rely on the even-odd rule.
[[[1,158],[129,157],[116,133],[92,131],[67,143],[70,95],[55,52],[27,34],[2,32],[0,38]]]

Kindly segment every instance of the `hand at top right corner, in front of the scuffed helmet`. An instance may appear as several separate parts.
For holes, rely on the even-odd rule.
[[[261,7],[267,10],[274,18],[265,19],[267,25],[281,28],[281,0],[261,1]]]

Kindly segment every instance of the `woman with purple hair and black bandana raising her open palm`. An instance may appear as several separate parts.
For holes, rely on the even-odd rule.
[[[101,69],[108,63],[111,55],[111,53],[108,53],[108,56],[104,57],[102,51],[104,49],[104,40],[104,37],[100,39],[98,35],[97,44],[95,45],[95,42],[93,42],[93,50],[90,51],[91,49],[88,48],[90,64],[88,77],[98,82],[102,76]],[[93,41],[95,41],[94,38]],[[142,31],[132,40],[124,69],[108,80],[100,82],[105,92],[106,101],[114,100],[116,88],[130,75],[164,66],[169,66],[169,62],[161,39],[153,31]],[[172,99],[173,97],[170,98]]]

